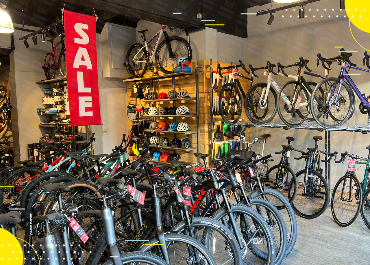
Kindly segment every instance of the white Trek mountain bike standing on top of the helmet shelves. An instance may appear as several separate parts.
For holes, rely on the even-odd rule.
[[[168,28],[171,31],[173,30],[170,26],[168,26]],[[148,42],[145,38],[145,32],[147,31],[148,30],[138,31],[138,33],[142,34],[141,37],[144,38],[144,46],[141,43],[135,43],[132,44],[127,51],[125,65],[128,73],[132,77],[142,77],[148,68],[151,69],[154,56],[158,68],[165,74],[174,73],[172,67],[173,65],[178,65],[177,60],[180,57],[185,56],[189,58],[189,61],[191,60],[192,51],[188,41],[177,36],[169,37],[166,32],[166,25],[162,24],[161,29],[154,34]],[[165,40],[159,43],[162,35],[164,35]],[[157,40],[155,41],[153,50],[149,53],[148,44],[151,43],[155,37],[157,37]]]

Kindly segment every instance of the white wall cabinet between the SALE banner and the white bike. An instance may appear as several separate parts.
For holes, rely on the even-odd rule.
[[[128,48],[136,43],[136,28],[106,23],[100,34],[103,77],[127,78],[124,63]]]

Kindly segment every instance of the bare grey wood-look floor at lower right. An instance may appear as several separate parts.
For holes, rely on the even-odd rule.
[[[297,216],[297,225],[295,247],[283,264],[370,264],[370,230],[360,214],[349,227],[340,227],[329,207],[315,219]]]

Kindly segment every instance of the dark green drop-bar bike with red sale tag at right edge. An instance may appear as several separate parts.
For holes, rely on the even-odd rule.
[[[369,150],[369,156],[367,158],[344,152],[340,154],[340,160],[335,161],[335,163],[344,163],[346,157],[356,160],[355,162],[348,161],[346,174],[337,181],[333,189],[331,200],[332,215],[334,221],[342,227],[349,226],[356,220],[362,205],[362,195],[370,187],[370,145],[366,149]],[[356,164],[365,165],[364,178],[361,183],[356,176]],[[367,197],[363,203],[364,205],[369,205]]]

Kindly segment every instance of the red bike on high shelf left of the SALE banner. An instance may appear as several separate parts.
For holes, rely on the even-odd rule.
[[[50,40],[52,50],[48,52],[44,59],[43,69],[45,72],[46,79],[55,78],[55,73],[60,70],[62,77],[67,76],[67,61],[65,59],[65,44],[64,34],[60,35],[60,41],[53,44],[54,38]]]

